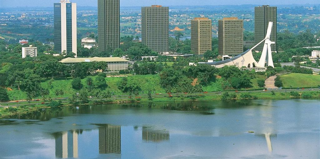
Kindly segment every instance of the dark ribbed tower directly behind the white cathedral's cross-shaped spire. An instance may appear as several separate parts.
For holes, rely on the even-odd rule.
[[[258,44],[267,34],[268,24],[273,22],[270,40],[276,42],[277,39],[277,7],[262,5],[254,7],[254,42]],[[277,51],[277,42],[271,44],[271,50]],[[256,47],[257,51],[262,51],[264,43]]]

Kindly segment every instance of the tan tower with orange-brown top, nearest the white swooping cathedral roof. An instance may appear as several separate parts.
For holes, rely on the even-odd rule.
[[[236,56],[243,52],[243,20],[236,17],[219,20],[219,54]]]

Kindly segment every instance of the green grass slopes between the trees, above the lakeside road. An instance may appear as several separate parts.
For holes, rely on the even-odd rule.
[[[93,80],[95,80],[96,76],[91,76]],[[146,94],[147,90],[154,91],[155,93],[165,93],[165,89],[160,86],[160,77],[159,75],[135,75],[135,76],[129,76],[127,77],[128,80],[134,81],[135,83],[138,83],[139,87],[144,91],[144,94]],[[121,80],[119,77],[109,77],[105,78],[106,82],[108,84],[108,87],[102,88],[103,90],[110,90],[113,92],[113,95],[128,95],[128,93],[121,92],[117,87],[117,82]],[[265,79],[265,76],[263,75],[256,75],[255,79],[251,79],[251,87],[247,87],[247,89],[262,89],[258,86],[257,81],[260,79]],[[289,73],[281,75],[281,80],[283,81],[284,87],[289,88],[290,85],[292,87],[317,87],[317,85],[320,84],[320,76],[319,75],[309,75],[309,74],[301,74],[301,73]],[[86,84],[86,79],[82,79],[82,84],[84,87]],[[67,80],[65,78],[57,78],[52,82],[52,86],[49,86],[49,79],[43,80],[41,82],[41,86],[44,88],[49,89],[50,94],[47,95],[47,97],[51,98],[64,98],[64,97],[71,97],[74,93],[79,92],[79,90],[73,89],[71,86],[72,78],[68,78]],[[217,92],[217,91],[223,91],[223,79],[217,78],[215,81],[210,82],[208,85],[203,87],[203,91],[207,92]],[[64,91],[64,95],[56,96],[54,95],[54,91],[56,89],[62,89]],[[240,90],[240,89],[239,89]],[[242,89],[244,90],[244,89]],[[232,89],[231,89],[232,91]],[[18,91],[16,88],[13,88],[12,91],[8,91],[8,95],[10,100],[18,100],[18,99],[26,99],[27,94],[23,91]],[[90,94],[89,94],[90,95]],[[36,97],[36,99],[39,99],[40,97]]]

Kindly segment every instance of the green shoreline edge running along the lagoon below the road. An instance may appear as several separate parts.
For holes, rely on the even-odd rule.
[[[309,92],[309,91],[308,91]],[[252,95],[251,98],[241,98],[241,94],[247,94],[247,95]],[[230,93],[231,94],[231,93]],[[256,99],[275,99],[275,100],[285,100],[285,99],[319,99],[320,98],[320,92],[319,91],[313,91],[311,93],[311,96],[308,97],[303,97],[301,96],[302,93],[300,94],[299,97],[294,97],[290,95],[290,92],[286,93],[275,93],[272,95],[272,93],[237,93],[236,98],[233,99],[226,99],[226,100],[256,100]],[[70,106],[84,106],[84,105],[99,105],[99,104],[131,104],[131,103],[150,103],[150,102],[183,102],[183,101],[217,101],[217,100],[222,100],[221,99],[222,95],[189,95],[189,96],[183,96],[181,98],[178,95],[172,96],[172,97],[156,97],[152,98],[152,100],[148,100],[147,97],[141,97],[141,98],[128,98],[128,99],[106,99],[106,100],[90,100],[87,103],[81,103],[81,102],[75,102],[75,103],[69,103],[69,102],[64,102],[61,103],[60,106],[58,107],[70,107]],[[13,106],[9,108],[16,108],[17,111],[4,111],[5,109],[2,107],[0,109],[0,119],[3,118],[10,118],[14,115],[25,115],[29,114],[35,111],[38,111],[39,109],[44,109],[44,108],[53,108],[44,104],[37,104],[37,105],[21,105],[19,108]]]

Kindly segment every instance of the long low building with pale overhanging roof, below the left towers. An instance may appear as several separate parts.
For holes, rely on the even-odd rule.
[[[108,70],[127,70],[128,69],[128,60],[120,57],[84,57],[84,58],[65,58],[62,59],[62,64],[73,65],[81,62],[94,62],[94,61],[104,61],[108,64]]]

